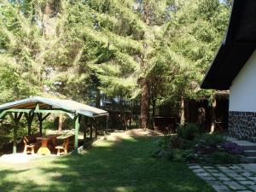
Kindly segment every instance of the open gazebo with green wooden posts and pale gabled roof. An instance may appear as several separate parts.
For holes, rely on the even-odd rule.
[[[87,118],[97,118],[100,116],[108,116],[108,112],[99,108],[93,108],[80,102],[72,100],[63,100],[55,98],[45,98],[42,96],[32,96],[27,99],[8,102],[0,105],[0,119],[4,119],[9,115],[14,122],[14,148],[13,153],[16,153],[17,146],[17,128],[20,119],[24,114],[27,121],[28,135],[31,135],[32,119],[37,114],[39,121],[39,131],[42,135],[42,123],[50,113],[67,113],[74,122],[74,149],[79,148],[79,127],[85,126]],[[85,142],[85,140],[84,140]]]

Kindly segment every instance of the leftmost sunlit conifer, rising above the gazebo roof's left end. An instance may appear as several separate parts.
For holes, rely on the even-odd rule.
[[[36,66],[40,50],[39,30],[31,22],[28,7],[22,14],[20,4],[0,3],[0,79],[1,102],[38,93],[40,69]]]

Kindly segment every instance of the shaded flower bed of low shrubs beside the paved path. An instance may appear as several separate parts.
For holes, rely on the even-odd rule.
[[[160,137],[150,152],[156,158],[210,164],[239,163],[242,154],[242,148],[223,135],[202,133],[193,124],[177,129],[177,135]]]

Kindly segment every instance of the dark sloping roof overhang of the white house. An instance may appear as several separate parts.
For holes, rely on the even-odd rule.
[[[256,1],[234,0],[224,42],[212,61],[202,89],[229,90],[256,48]]]

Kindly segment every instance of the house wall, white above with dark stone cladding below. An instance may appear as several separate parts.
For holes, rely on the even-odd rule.
[[[253,141],[256,137],[256,51],[230,87],[229,133]]]

